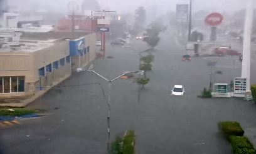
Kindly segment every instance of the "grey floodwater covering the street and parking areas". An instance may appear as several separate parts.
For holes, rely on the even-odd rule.
[[[142,42],[131,45],[137,49],[144,46]],[[113,58],[94,60],[94,70],[110,79],[124,71],[137,70],[136,51],[107,47],[107,56]],[[240,75],[241,62],[235,60],[234,64],[235,57],[193,58],[191,62],[182,62],[184,49],[175,44],[171,32],[161,36],[153,54],[153,68],[147,73],[151,80],[142,89],[139,102],[138,85],[133,79],[112,83],[111,140],[132,129],[136,131],[136,153],[228,154],[232,153],[231,146],[218,134],[218,122],[235,120],[245,130],[256,128],[255,103],[237,98],[197,97],[209,85],[207,62],[216,61],[215,70],[223,72],[216,76],[217,82],[229,83]],[[90,84],[95,82],[100,85]],[[184,85],[183,97],[170,95],[174,84]],[[51,89],[29,105],[54,114],[1,130],[0,153],[105,153],[107,83],[90,72],[80,72],[61,85],[77,86]]]

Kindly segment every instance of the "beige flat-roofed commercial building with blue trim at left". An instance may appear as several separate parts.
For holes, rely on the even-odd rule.
[[[74,38],[85,40],[79,55],[70,55]],[[95,34],[0,32],[0,98],[48,90],[94,58]]]

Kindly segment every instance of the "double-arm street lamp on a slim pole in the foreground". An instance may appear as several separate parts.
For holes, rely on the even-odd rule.
[[[87,68],[78,68],[77,72],[83,72],[83,71],[92,72],[93,74],[96,74],[100,78],[109,82],[109,97],[108,97],[108,101],[107,101],[107,107],[108,107],[108,112],[107,112],[107,125],[108,125],[108,128],[107,128],[107,133],[108,133],[107,154],[109,154],[110,153],[110,94],[111,94],[111,83],[114,82],[115,80],[119,79],[120,77],[126,75],[126,74],[144,74],[144,70],[139,70],[139,71],[135,71],[135,72],[134,71],[127,71],[127,72],[124,72],[123,74],[119,75],[118,77],[115,77],[114,79],[110,80],[110,79],[107,79],[103,75],[100,75],[99,73],[97,73],[97,72],[95,72],[94,70],[91,70],[91,69],[92,69],[92,67],[90,67],[89,69],[87,69]]]

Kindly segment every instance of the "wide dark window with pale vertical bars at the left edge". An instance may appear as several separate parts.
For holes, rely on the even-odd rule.
[[[0,77],[0,94],[24,92],[24,77]]]

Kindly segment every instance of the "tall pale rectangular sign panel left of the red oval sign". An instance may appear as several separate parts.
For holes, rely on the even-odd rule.
[[[176,21],[188,22],[188,4],[176,4]]]

